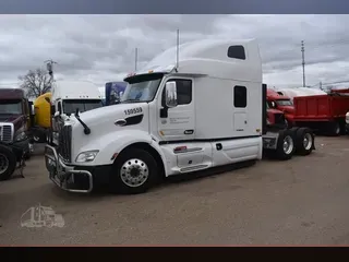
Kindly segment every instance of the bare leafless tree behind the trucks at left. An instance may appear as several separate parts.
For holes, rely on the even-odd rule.
[[[46,70],[29,70],[25,75],[20,75],[21,87],[26,91],[27,97],[38,97],[51,90],[50,75]]]

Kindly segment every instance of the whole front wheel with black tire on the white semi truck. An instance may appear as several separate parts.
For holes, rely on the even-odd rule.
[[[154,157],[144,150],[130,148],[117,157],[109,186],[113,193],[139,194],[151,189],[157,179],[158,168]]]

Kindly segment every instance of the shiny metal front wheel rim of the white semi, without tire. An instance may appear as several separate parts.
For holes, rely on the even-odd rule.
[[[121,166],[120,177],[131,188],[141,187],[148,179],[149,169],[143,160],[133,158]]]

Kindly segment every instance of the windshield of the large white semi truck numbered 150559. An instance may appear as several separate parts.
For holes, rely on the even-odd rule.
[[[163,73],[154,73],[130,78],[120,102],[137,103],[153,100],[163,76]]]

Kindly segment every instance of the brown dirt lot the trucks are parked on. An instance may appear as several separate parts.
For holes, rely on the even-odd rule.
[[[348,245],[349,138],[317,138],[316,146],[308,157],[143,195],[63,192],[36,156],[25,178],[0,182],[0,245]],[[22,214],[39,204],[64,226],[22,227]]]

